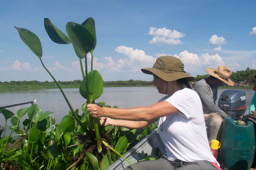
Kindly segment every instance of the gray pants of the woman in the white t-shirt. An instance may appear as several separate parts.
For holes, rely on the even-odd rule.
[[[183,162],[183,161],[168,161],[161,157],[152,161],[143,161],[133,164],[139,170],[218,170],[209,161],[195,161],[195,162]],[[136,170],[132,165],[129,165],[125,170]]]

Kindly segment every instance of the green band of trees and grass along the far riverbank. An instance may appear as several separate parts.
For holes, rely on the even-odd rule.
[[[256,83],[254,76],[256,75],[256,69],[247,68],[246,70],[233,72],[231,80],[235,82],[233,88],[251,88]],[[197,75],[193,82],[190,82],[192,87],[195,83],[201,79],[208,77],[208,74]],[[81,80],[73,81],[58,81],[62,88],[79,88]],[[118,80],[118,81],[104,81],[104,87],[147,87],[153,86],[153,81],[143,80]],[[224,86],[226,87],[226,86]],[[56,89],[58,86],[54,81],[0,81],[0,90],[19,90],[19,89]],[[230,88],[230,87],[227,87]]]

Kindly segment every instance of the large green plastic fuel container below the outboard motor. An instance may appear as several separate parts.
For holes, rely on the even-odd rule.
[[[255,153],[252,122],[225,117],[219,141],[218,162],[223,170],[250,170]]]

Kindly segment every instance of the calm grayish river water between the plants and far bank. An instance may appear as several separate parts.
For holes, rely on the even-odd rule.
[[[227,89],[219,89],[218,97]],[[247,109],[254,94],[252,89],[244,90],[247,98]],[[63,89],[69,102],[74,110],[79,108],[79,114],[82,114],[81,105],[86,101],[79,93],[79,89]],[[150,106],[156,103],[164,95],[159,94],[155,87],[109,87],[104,88],[103,94],[95,102],[106,102],[106,105],[117,106],[118,108],[130,108],[140,106]],[[0,106],[23,103],[33,101],[36,98],[35,104],[38,104],[42,111],[54,112],[52,116],[55,117],[56,122],[68,115],[69,107],[63,98],[59,89],[38,89],[38,90],[15,90],[15,91],[0,91]],[[218,99],[217,99],[218,101]],[[7,108],[15,115],[20,108],[29,107],[31,104],[20,105]],[[248,110],[246,111],[248,113]],[[20,120],[22,122],[28,118],[27,114]],[[4,116],[0,115],[0,125],[4,126]],[[7,126],[11,125],[10,119],[7,121]],[[6,129],[6,134],[9,134],[9,128]]]

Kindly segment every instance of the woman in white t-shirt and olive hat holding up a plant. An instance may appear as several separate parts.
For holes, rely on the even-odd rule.
[[[148,107],[108,108],[88,104],[90,115],[101,117],[101,122],[108,117],[105,126],[134,129],[159,120],[158,133],[165,145],[165,155],[157,160],[135,163],[140,170],[220,169],[207,140],[201,100],[188,83],[195,78],[186,74],[180,59],[173,56],[158,57],[153,68],[141,70],[153,75],[153,84],[158,92],[168,96]],[[183,88],[183,84],[187,88]],[[135,168],[128,166],[126,169]]]

